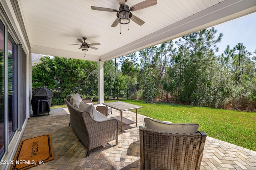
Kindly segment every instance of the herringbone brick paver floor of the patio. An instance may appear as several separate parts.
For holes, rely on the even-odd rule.
[[[114,110],[114,109],[113,109]],[[138,109],[140,113],[140,109]],[[119,111],[114,110],[114,117]],[[135,121],[135,113],[124,111],[123,116]],[[106,147],[94,149],[86,158],[86,148],[69,123],[68,108],[51,109],[50,115],[31,117],[22,139],[51,134],[54,160],[31,170],[139,170],[140,145],[138,127],[144,116],[138,114],[138,126],[124,127],[118,135],[118,145],[112,141]],[[207,133],[207,132],[206,132]],[[207,137],[201,170],[256,170],[256,152]]]

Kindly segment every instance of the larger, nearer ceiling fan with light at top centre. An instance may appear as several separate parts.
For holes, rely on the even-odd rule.
[[[130,19],[135,23],[137,23],[138,25],[143,25],[145,22],[140,18],[132,15],[131,11],[138,11],[138,10],[148,8],[150,6],[157,4],[157,0],[145,0],[129,8],[129,6],[125,4],[126,1],[127,0],[118,0],[120,5],[119,10],[97,7],[97,6],[92,6],[91,8],[92,10],[98,10],[98,11],[116,12],[117,18],[111,25],[111,27],[116,27],[118,23],[121,23],[121,24],[129,23]]]

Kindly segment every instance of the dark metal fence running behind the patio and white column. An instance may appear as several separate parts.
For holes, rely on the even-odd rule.
[[[34,89],[32,89],[34,91]],[[51,106],[60,106],[65,105],[65,98],[68,98],[70,94],[64,94],[63,89],[52,89],[52,105]],[[79,92],[72,92],[71,94],[78,93],[81,98],[90,99],[93,102],[98,102],[98,89],[97,92],[94,89],[89,90],[79,90]],[[95,93],[95,94],[94,94]],[[131,99],[137,100],[137,90],[136,89],[126,89],[126,90],[117,90],[117,89],[104,89],[104,100],[124,100]]]

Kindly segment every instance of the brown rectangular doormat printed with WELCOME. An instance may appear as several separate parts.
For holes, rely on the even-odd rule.
[[[50,134],[23,139],[20,141],[10,170],[25,170],[53,159]]]

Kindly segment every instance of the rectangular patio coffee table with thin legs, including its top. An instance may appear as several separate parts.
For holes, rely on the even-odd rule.
[[[121,121],[121,131],[123,131],[123,119],[125,121],[125,124],[126,125],[129,125],[129,124],[132,124],[132,123],[136,123],[136,127],[137,127],[137,109],[138,108],[141,108],[142,106],[137,106],[137,105],[134,105],[134,104],[129,104],[129,103],[126,103],[126,102],[110,102],[110,103],[103,103],[103,105],[105,106],[108,106],[108,107],[112,107],[113,109],[117,109],[120,111],[120,120]],[[125,117],[123,117],[123,111],[126,111],[126,110],[131,110],[131,109],[136,109],[136,122],[134,121],[131,121],[129,119],[126,119]]]

